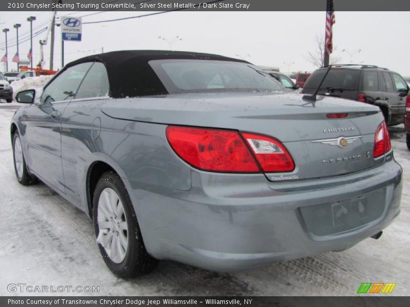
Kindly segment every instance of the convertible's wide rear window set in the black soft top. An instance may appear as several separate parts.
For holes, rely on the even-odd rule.
[[[168,93],[283,92],[284,87],[256,66],[219,60],[152,60]]]

